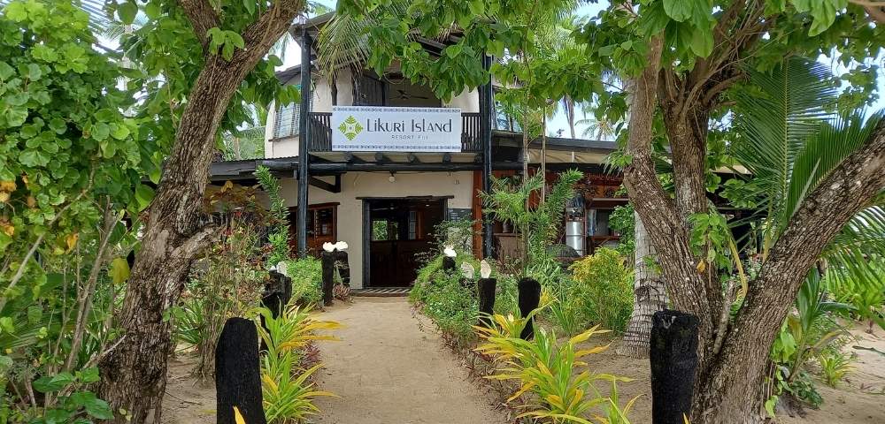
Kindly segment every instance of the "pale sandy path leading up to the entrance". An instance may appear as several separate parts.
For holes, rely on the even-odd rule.
[[[341,398],[319,399],[317,422],[506,422],[439,337],[419,328],[405,298],[357,298],[327,309],[322,318],[345,328],[335,331],[342,341],[320,343],[319,384]]]

